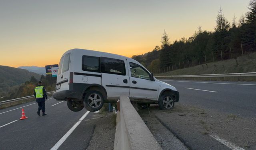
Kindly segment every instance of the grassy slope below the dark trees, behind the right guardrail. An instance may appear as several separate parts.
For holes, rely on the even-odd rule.
[[[156,76],[256,72],[256,52],[244,54],[244,56],[238,57],[237,61],[238,65],[236,65],[235,59],[230,59],[156,74]]]

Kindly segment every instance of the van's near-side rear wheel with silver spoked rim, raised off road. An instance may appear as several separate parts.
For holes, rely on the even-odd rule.
[[[104,99],[99,91],[92,90],[85,94],[83,103],[84,108],[90,112],[96,112],[102,108]]]

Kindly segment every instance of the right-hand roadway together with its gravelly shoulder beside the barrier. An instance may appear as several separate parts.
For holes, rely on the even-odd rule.
[[[189,149],[256,148],[256,82],[161,81],[177,88],[182,106],[170,113],[153,106],[150,111]],[[191,113],[194,106],[206,114]]]

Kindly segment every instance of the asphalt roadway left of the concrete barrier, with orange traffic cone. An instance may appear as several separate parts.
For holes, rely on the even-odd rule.
[[[46,101],[47,115],[42,116],[41,112],[41,116],[38,116],[38,106],[34,103],[28,102],[0,110],[0,150],[84,150],[88,146],[95,126],[95,122],[88,119],[93,118],[94,113],[87,112],[86,109],[72,112],[66,102],[49,98]],[[18,120],[22,113],[20,107],[24,108],[28,119]],[[82,119],[82,116],[85,118]],[[10,122],[13,123],[8,124]],[[75,124],[78,126],[72,128]],[[69,134],[67,132],[70,129],[74,129],[70,136],[62,138]]]

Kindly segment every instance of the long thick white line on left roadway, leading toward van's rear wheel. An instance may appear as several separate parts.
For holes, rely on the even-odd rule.
[[[70,136],[70,134],[76,129],[76,127],[82,122],[82,120],[84,120],[84,118],[89,114],[89,111],[87,111],[79,120],[78,122],[76,122],[76,124],[74,124],[74,126],[72,126],[72,128],[70,128],[70,130],[68,130],[68,132],[62,136],[62,138],[51,148],[51,150],[57,150],[61,144],[68,138],[68,136]]]

